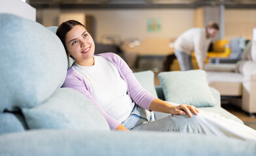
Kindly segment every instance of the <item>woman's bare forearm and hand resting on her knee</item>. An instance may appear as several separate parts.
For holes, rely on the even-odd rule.
[[[193,105],[182,104],[182,105],[174,106],[161,99],[154,99],[150,105],[150,110],[153,110],[156,112],[170,113],[174,115],[176,114],[185,115],[187,112],[187,114],[190,117],[192,117],[191,112],[193,112],[195,115],[199,113],[199,110]]]

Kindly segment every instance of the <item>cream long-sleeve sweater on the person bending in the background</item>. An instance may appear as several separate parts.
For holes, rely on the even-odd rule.
[[[199,68],[202,69],[211,41],[212,38],[206,38],[205,28],[191,28],[177,38],[174,48],[188,55],[195,52],[197,64]]]

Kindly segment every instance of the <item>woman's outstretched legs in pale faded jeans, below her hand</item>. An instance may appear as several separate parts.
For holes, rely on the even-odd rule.
[[[204,110],[200,110],[198,115],[193,114],[192,118],[188,115],[169,115],[154,122],[138,125],[132,131],[169,131],[256,141],[256,131],[254,129],[214,112]]]

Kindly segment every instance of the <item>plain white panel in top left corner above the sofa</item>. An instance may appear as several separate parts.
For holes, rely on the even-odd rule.
[[[16,14],[35,21],[36,9],[22,0],[0,0],[0,13]]]

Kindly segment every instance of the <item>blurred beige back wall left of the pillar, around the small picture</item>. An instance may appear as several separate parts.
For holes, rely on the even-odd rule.
[[[46,14],[48,10],[39,10],[38,14]],[[95,18],[95,40],[100,42],[103,36],[120,36],[121,40],[137,38],[177,38],[182,32],[194,26],[194,9],[114,9],[114,10],[50,10],[51,12],[78,13],[84,12]],[[52,14],[52,17],[56,15]],[[49,18],[52,24],[55,23],[51,17],[42,17],[41,21]],[[158,18],[161,20],[161,31],[148,32],[147,20]]]

